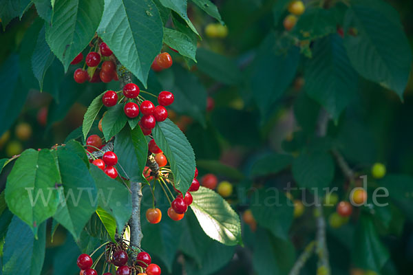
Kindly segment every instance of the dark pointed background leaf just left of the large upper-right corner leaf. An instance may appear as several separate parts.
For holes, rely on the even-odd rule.
[[[357,95],[358,76],[338,34],[315,42],[305,77],[304,89],[308,96],[319,102],[335,121]]]

